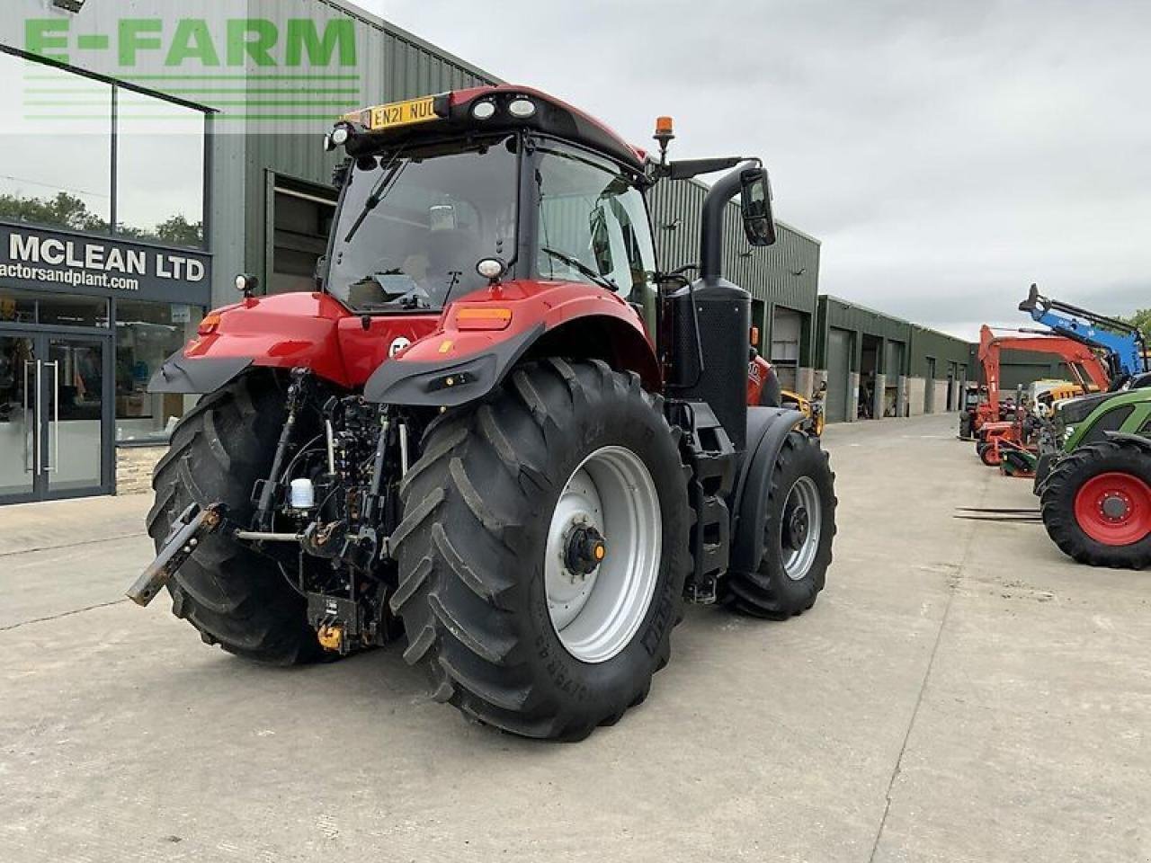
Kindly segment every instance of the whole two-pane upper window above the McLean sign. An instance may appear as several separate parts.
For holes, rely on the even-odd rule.
[[[0,79],[0,220],[204,247],[205,110],[3,52]]]

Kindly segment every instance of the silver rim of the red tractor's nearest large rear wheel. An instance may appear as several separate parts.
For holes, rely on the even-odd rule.
[[[588,536],[602,537],[604,553],[581,572],[572,566],[573,543]],[[572,472],[551,515],[543,565],[548,616],[569,654],[602,663],[631,643],[655,595],[662,540],[660,495],[639,456],[604,446]]]

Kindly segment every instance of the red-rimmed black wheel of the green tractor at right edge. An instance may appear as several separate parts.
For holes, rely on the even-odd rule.
[[[1142,570],[1151,565],[1151,456],[1103,441],[1064,456],[1043,484],[1043,524],[1081,564]]]

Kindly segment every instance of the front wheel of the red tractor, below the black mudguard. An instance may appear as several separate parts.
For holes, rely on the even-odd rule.
[[[817,437],[792,432],[776,459],[763,525],[763,558],[753,573],[729,572],[727,601],[739,611],[786,620],[823,590],[836,535],[834,474]]]

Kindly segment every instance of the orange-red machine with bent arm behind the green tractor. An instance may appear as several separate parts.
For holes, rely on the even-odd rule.
[[[1027,330],[1019,331],[1028,333]],[[1083,395],[1105,391],[1110,384],[1106,367],[1098,354],[1087,345],[1062,336],[997,336],[989,326],[983,324],[980,329],[978,359],[983,366],[988,397],[969,412],[963,419],[963,423],[968,426],[971,436],[975,437],[980,459],[988,466],[999,465],[1003,460],[1001,450],[1004,448],[1017,449],[1023,445],[1024,412],[1022,405],[1015,405],[1014,414],[1009,418],[1005,417],[999,394],[999,358],[1005,350],[1051,353],[1059,357]]]

